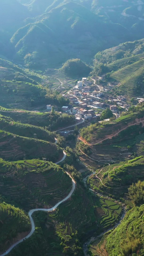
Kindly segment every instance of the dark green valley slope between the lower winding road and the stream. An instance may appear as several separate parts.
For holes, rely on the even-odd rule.
[[[27,252],[38,256],[40,251],[44,254],[46,248],[57,256],[83,256],[84,241],[110,227],[119,218],[120,212],[121,207],[114,201],[87,193],[84,186],[77,183],[71,200],[48,215],[35,214],[36,232],[15,248],[12,256],[23,256]],[[37,244],[38,239],[40,243]]]

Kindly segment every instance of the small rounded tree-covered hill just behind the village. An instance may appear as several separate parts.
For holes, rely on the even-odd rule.
[[[91,72],[91,68],[80,59],[66,61],[61,70],[70,77],[87,77]]]

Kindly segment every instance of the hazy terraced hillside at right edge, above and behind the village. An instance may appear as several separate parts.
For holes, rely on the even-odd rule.
[[[129,97],[144,94],[144,40],[126,42],[95,56],[94,74],[106,74],[106,79],[117,82],[113,93]]]

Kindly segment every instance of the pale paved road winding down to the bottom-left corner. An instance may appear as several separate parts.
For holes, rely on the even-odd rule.
[[[66,152],[63,151],[63,158],[62,158],[60,161],[56,162],[56,164],[59,164],[59,163],[62,162],[65,158],[66,158]],[[68,172],[66,172],[66,173],[67,173],[67,175],[69,175],[70,178],[72,179],[72,176],[71,176]],[[75,184],[76,184],[75,181],[72,179],[72,190],[70,191],[69,195],[67,195],[64,199],[62,199],[60,202],[58,202],[55,206],[53,206],[53,207],[51,207],[51,208],[48,208],[48,209],[45,209],[45,208],[31,209],[31,210],[28,212],[28,216],[29,216],[29,219],[30,219],[30,222],[31,222],[31,232],[30,232],[27,236],[25,236],[23,239],[21,239],[20,241],[18,241],[18,242],[16,242],[15,244],[13,244],[6,252],[4,252],[3,254],[1,254],[0,256],[8,255],[16,245],[22,243],[25,239],[28,239],[29,237],[32,236],[32,234],[35,232],[35,222],[34,222],[34,219],[33,219],[33,217],[32,217],[32,215],[33,215],[34,212],[36,212],[36,211],[46,211],[46,212],[54,211],[60,204],[62,204],[63,202],[65,202],[66,200],[68,200],[68,199],[71,197],[72,193],[73,193],[74,190],[75,190]]]

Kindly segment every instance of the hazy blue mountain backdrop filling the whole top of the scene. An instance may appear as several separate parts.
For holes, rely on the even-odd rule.
[[[0,54],[38,69],[92,64],[98,51],[143,38],[143,14],[141,0],[1,0]]]

